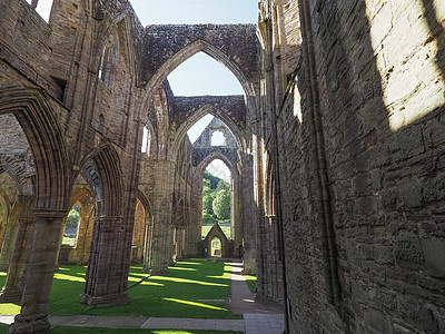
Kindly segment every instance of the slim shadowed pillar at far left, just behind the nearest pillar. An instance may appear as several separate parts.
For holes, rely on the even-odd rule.
[[[31,254],[34,220],[31,216],[33,197],[19,196],[20,215],[16,246],[12,252],[4,286],[0,292],[2,303],[20,302],[24,285],[24,273]]]

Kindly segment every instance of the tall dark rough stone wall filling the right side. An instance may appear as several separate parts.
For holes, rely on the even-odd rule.
[[[295,70],[271,94],[289,331],[442,333],[443,6],[298,4],[277,22],[261,3],[271,58],[303,38],[300,61],[271,60],[275,78]]]

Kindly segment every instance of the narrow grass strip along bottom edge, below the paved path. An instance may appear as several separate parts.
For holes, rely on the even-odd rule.
[[[0,332],[7,333],[8,325],[0,325]],[[101,328],[101,327],[68,327],[68,326],[52,326],[51,334],[225,334],[225,333],[241,333],[241,332],[224,332],[224,331],[180,331],[180,330],[140,330],[140,328]]]

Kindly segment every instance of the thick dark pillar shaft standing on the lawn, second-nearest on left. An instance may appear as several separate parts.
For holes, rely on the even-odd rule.
[[[92,232],[90,259],[85,293],[86,305],[122,305],[127,303],[127,289],[119,264],[120,232],[125,229],[122,217],[96,217]]]

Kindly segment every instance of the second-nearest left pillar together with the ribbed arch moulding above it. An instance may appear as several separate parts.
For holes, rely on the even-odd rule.
[[[121,235],[123,205],[122,173],[119,156],[111,146],[103,146],[86,158],[81,170],[95,196],[95,226],[82,303],[119,305],[127,302],[127,271],[131,248],[122,252],[128,240]],[[121,252],[118,253],[120,248]],[[112,265],[109,258],[116,258]],[[112,279],[110,279],[112,277]]]

